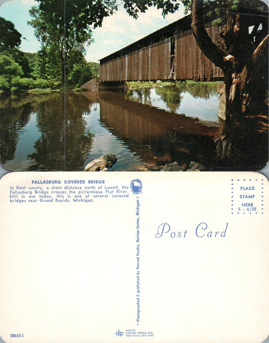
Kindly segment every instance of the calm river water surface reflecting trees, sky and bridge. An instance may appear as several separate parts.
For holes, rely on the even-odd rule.
[[[114,153],[111,170],[215,161],[216,84],[0,97],[1,164],[13,171],[84,170]]]

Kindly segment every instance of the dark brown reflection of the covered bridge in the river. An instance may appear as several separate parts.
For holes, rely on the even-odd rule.
[[[100,104],[100,121],[149,164],[196,160],[211,165],[218,127],[124,99],[117,92],[83,92]]]

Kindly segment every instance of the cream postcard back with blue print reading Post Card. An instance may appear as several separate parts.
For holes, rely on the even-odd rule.
[[[1,180],[5,342],[262,342],[259,173],[11,173]]]

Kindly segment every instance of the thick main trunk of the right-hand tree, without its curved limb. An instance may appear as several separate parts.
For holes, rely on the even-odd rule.
[[[268,36],[243,71],[232,74],[227,92],[226,125],[217,149],[219,157],[239,169],[260,169],[268,161],[267,51]]]

